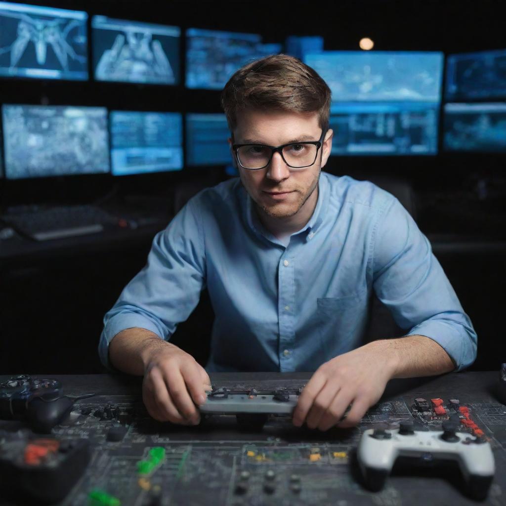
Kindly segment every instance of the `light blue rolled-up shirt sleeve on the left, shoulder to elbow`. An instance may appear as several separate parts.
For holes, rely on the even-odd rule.
[[[146,266],[125,286],[104,317],[99,357],[107,368],[109,343],[121,330],[144,328],[169,340],[188,318],[205,286],[205,252],[197,197],[153,239]]]

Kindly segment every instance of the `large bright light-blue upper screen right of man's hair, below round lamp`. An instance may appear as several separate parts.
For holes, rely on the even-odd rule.
[[[440,102],[443,54],[324,51],[307,53],[332,91],[332,102]]]

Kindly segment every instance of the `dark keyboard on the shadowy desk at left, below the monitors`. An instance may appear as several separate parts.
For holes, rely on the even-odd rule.
[[[15,210],[3,215],[2,220],[37,241],[94,234],[118,224],[117,218],[89,204]]]

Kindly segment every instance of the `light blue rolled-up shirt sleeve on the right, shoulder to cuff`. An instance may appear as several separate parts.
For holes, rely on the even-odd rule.
[[[476,359],[477,335],[427,237],[392,198],[373,234],[373,288],[406,335],[436,341],[455,370]]]

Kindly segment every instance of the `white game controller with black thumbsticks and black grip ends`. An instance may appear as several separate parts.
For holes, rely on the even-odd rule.
[[[495,472],[489,442],[457,433],[458,425],[446,421],[442,431],[414,431],[411,420],[401,421],[399,429],[368,429],[362,434],[357,458],[368,489],[385,485],[398,456],[423,461],[456,460],[469,485],[469,493],[482,500],[487,496]]]

